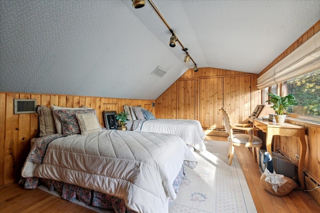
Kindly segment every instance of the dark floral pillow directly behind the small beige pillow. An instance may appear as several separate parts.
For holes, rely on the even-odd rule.
[[[74,135],[81,132],[81,129],[79,127],[79,124],[76,118],[76,114],[94,113],[96,115],[95,109],[82,109],[82,110],[58,109],[58,110],[54,110],[54,113],[61,121],[62,132],[64,136]]]

